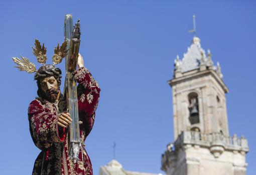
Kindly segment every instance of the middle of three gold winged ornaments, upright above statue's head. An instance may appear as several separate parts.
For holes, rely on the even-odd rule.
[[[32,47],[32,49],[33,54],[37,57],[38,63],[45,64],[47,60],[45,44],[43,43],[43,46],[41,46],[41,43],[38,40],[35,40],[35,47],[36,48]]]

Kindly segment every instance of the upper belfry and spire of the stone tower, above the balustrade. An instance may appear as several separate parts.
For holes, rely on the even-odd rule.
[[[185,130],[201,133],[222,132],[228,136],[225,93],[220,66],[213,65],[211,53],[201,48],[194,37],[183,59],[175,60],[174,78],[169,81],[173,91],[175,139]]]

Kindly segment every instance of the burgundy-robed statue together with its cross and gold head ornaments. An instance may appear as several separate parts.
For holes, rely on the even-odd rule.
[[[38,70],[28,58],[13,58],[16,67],[21,71],[35,72],[34,79],[38,86],[38,97],[29,104],[28,109],[30,133],[35,145],[41,149],[35,160],[32,173],[34,175],[92,175],[91,161],[84,148],[84,141],[95,120],[100,88],[84,67],[83,57],[78,54],[77,43],[80,43],[80,35],[76,36],[78,27],[80,29],[79,21],[74,27],[71,39],[65,40],[61,46],[58,44],[54,49],[53,65],[45,64],[46,48],[44,44],[41,46],[38,40],[35,41],[33,48],[38,62],[43,64]],[[60,91],[62,72],[56,64],[59,64],[64,57],[66,57],[66,79],[65,92],[62,94]],[[73,68],[77,66],[77,69],[71,72],[70,65],[71,67],[73,65]],[[75,89],[70,86],[74,86]],[[77,123],[75,123],[76,117]]]

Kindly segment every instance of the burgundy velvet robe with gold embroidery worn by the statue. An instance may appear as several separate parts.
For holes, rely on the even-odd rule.
[[[61,98],[56,105],[42,98],[36,98],[29,105],[28,116],[32,139],[42,151],[35,161],[33,175],[92,175],[91,161],[84,149],[84,141],[94,123],[100,89],[86,68],[76,70],[73,75],[78,82],[79,121],[82,121],[80,124],[82,149],[79,152],[79,161],[74,163],[69,159],[68,129],[57,124],[58,114],[66,111],[65,99]]]

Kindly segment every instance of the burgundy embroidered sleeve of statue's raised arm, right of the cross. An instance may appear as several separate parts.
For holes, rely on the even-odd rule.
[[[85,130],[86,135],[88,135],[94,123],[100,88],[86,68],[76,70],[73,75],[78,82],[77,96],[79,118],[83,122],[82,128]]]

